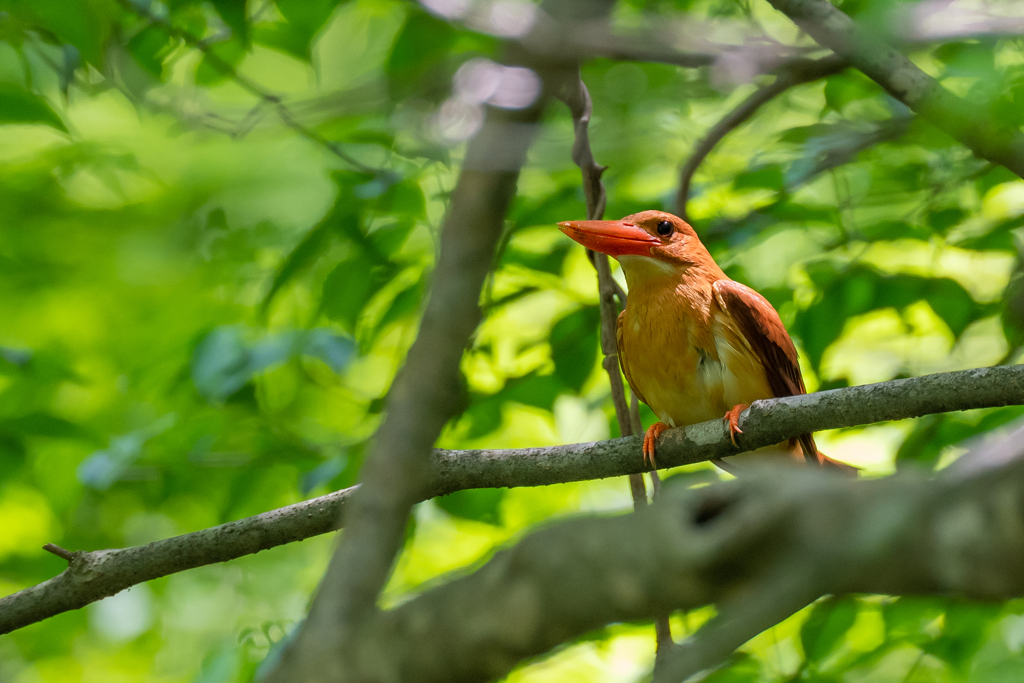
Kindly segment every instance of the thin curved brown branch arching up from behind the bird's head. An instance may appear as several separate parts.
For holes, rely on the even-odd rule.
[[[750,97],[729,112],[715,124],[711,130],[693,147],[693,154],[679,172],[679,195],[676,197],[676,215],[689,220],[686,215],[686,202],[690,195],[690,181],[700,163],[711,154],[715,145],[722,141],[730,131],[738,128],[761,109],[790,88],[804,83],[838,74],[846,69],[846,60],[835,54],[820,59],[794,59],[780,67],[775,72],[775,80],[768,85],[755,90]]]

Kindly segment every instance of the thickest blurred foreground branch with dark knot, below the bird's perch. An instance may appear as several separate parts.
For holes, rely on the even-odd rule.
[[[717,665],[750,627],[825,593],[1024,595],[1024,463],[970,479],[860,482],[783,469],[668,487],[637,514],[527,537],[479,571],[377,614],[330,680],[494,680],[609,623],[723,606],[724,618],[659,671],[658,680],[679,680],[669,674]]]

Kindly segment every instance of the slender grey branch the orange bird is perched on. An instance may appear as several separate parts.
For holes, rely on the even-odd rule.
[[[1024,404],[1024,366],[894,380],[757,401],[740,425],[740,447],[719,420],[672,429],[657,444],[663,467],[705,462],[822,429],[856,427],[933,413]],[[539,449],[433,452],[422,498],[466,488],[541,486],[637,474],[647,468],[640,437]],[[1006,459],[1005,459],[1006,460]],[[122,550],[73,553],[53,579],[0,598],[0,634],[9,633],[136,584],[225,562],[338,528],[354,488],[254,517]]]

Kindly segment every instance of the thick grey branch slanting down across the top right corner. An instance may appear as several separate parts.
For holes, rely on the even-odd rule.
[[[943,88],[905,55],[859,27],[828,0],[768,0],[824,47],[982,159],[1024,177],[1024,135],[980,104]]]

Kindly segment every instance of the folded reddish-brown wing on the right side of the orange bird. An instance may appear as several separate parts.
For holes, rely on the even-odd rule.
[[[800,374],[797,347],[768,300],[750,287],[731,280],[716,281],[712,289],[718,304],[736,324],[764,367],[768,386],[775,397],[807,393]],[[824,462],[811,434],[803,434],[799,438],[808,462]]]

